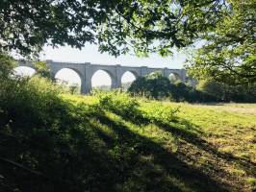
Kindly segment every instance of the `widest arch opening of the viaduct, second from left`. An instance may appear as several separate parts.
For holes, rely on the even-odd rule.
[[[81,93],[82,80],[80,75],[73,69],[63,68],[55,74],[57,84],[64,86],[64,89],[71,94]]]

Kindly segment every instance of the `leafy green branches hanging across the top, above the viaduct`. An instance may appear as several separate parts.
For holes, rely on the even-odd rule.
[[[0,48],[28,56],[43,45],[99,44],[114,56],[184,47],[212,28],[219,0],[2,0]]]

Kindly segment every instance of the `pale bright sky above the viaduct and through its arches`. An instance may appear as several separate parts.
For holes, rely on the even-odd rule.
[[[172,57],[162,58],[157,54],[152,54],[148,58],[138,58],[133,54],[128,54],[120,57],[110,56],[108,53],[101,54],[98,52],[96,45],[87,44],[82,50],[74,49],[69,46],[52,48],[44,47],[40,54],[40,60],[54,61],[70,61],[70,62],[90,62],[98,64],[120,64],[128,66],[148,66],[148,67],[167,67],[167,68],[182,68],[187,58],[185,53],[174,51]],[[31,74],[32,70],[18,69],[19,73]],[[70,69],[63,69],[56,75],[57,79],[62,79],[69,84],[81,84],[79,76]],[[126,73],[122,78],[122,83],[132,82],[135,77],[131,73]],[[104,71],[97,71],[91,80],[92,86],[110,85],[111,78]]]

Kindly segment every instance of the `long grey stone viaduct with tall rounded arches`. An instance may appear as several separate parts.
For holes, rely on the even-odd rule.
[[[109,74],[112,80],[111,87],[121,87],[122,75],[129,71],[136,78],[140,76],[148,75],[152,72],[161,72],[165,77],[169,77],[170,74],[175,75],[181,81],[187,79],[185,69],[169,69],[169,68],[150,68],[146,66],[122,66],[122,65],[103,65],[103,64],[91,64],[90,62],[84,63],[72,63],[72,62],[56,62],[53,60],[46,60],[51,73],[55,77],[58,71],[68,68],[74,70],[81,79],[81,93],[90,93],[91,90],[91,78],[93,74],[98,70],[103,70]],[[18,60],[18,66],[28,66],[33,68],[33,64],[30,61]]]

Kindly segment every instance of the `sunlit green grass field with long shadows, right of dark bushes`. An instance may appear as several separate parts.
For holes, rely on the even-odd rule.
[[[80,108],[99,102],[92,96],[63,97]],[[106,183],[97,180],[107,190],[256,190],[255,104],[190,105],[140,99],[140,112],[134,113],[131,108],[121,109],[129,106],[122,104],[126,100],[114,101],[112,107],[101,103],[98,110],[103,112],[88,119],[93,127],[91,146],[104,154],[98,169],[112,170]]]

